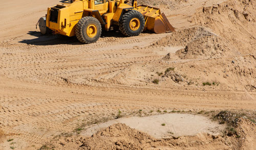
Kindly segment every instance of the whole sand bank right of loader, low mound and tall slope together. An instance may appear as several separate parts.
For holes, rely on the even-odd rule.
[[[196,27],[180,29],[153,45],[183,45],[181,59],[208,59],[255,53],[256,4],[229,0],[202,7],[193,15]],[[201,27],[198,27],[201,26]]]

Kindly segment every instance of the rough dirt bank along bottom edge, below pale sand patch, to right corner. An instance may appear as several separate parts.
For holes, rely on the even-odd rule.
[[[155,139],[146,133],[127,127],[123,123],[113,124],[88,138],[63,138],[54,143],[60,149],[253,149],[256,138],[256,125],[247,119],[239,119],[236,135],[213,136],[198,134],[165,139]]]

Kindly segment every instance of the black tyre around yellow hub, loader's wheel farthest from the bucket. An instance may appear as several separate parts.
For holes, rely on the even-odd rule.
[[[95,36],[89,37],[87,28],[92,24],[97,30],[95,31]],[[89,44],[96,42],[101,35],[101,31],[102,29],[99,20],[91,16],[82,17],[76,24],[76,38],[82,43]]]

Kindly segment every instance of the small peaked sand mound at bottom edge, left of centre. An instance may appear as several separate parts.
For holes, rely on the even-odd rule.
[[[144,149],[152,140],[151,136],[118,123],[84,139],[80,149]]]

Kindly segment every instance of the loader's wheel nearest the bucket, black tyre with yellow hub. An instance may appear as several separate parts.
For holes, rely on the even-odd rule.
[[[119,22],[119,30],[125,36],[137,36],[145,27],[145,19],[137,10],[127,11]]]

